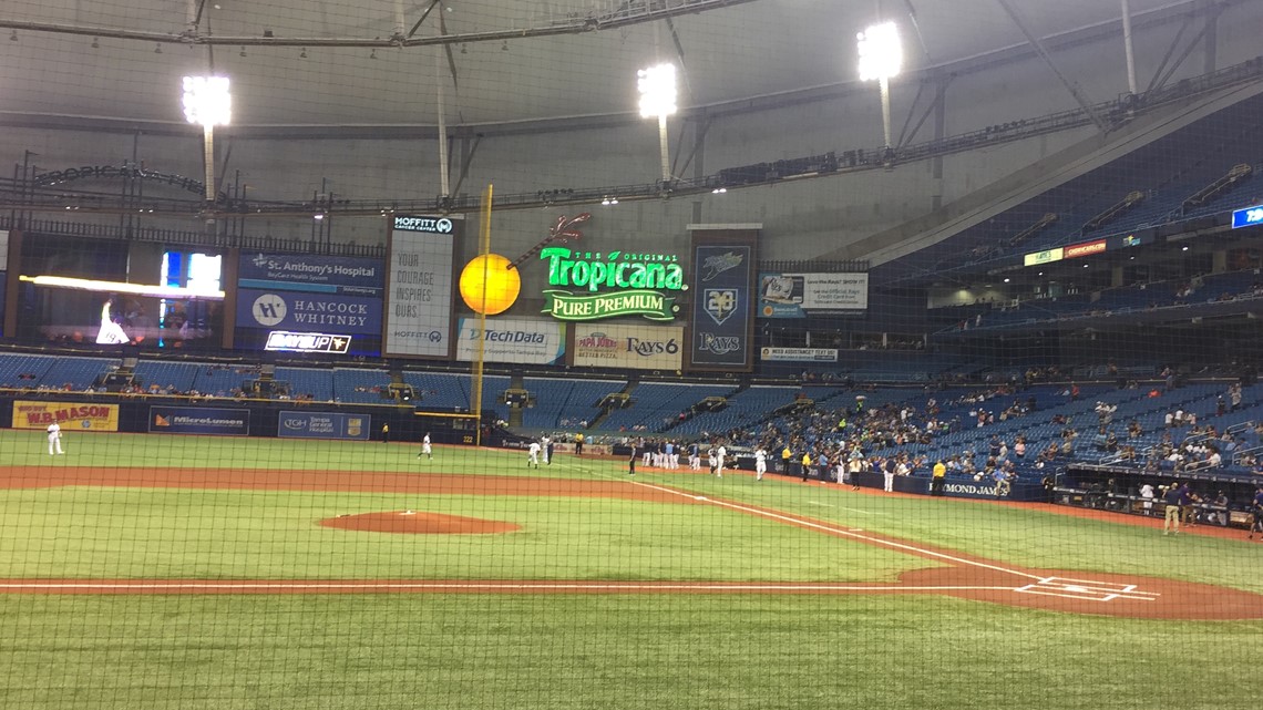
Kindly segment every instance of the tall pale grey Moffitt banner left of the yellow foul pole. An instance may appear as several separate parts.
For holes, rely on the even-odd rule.
[[[404,231],[399,226],[402,219],[416,220],[418,230],[432,226],[436,231]],[[452,264],[460,226],[460,221],[446,217],[395,217],[388,258],[384,355],[448,356]],[[440,227],[447,231],[438,231]]]

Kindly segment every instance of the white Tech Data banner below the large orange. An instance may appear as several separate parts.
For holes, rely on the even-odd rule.
[[[456,359],[471,363],[482,341],[488,363],[552,365],[566,354],[566,323],[548,318],[488,318],[486,332],[479,332],[479,320],[465,317],[456,339]]]

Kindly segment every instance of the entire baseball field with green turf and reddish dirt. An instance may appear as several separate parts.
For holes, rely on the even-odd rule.
[[[560,454],[0,432],[0,706],[1242,707],[1263,545]]]

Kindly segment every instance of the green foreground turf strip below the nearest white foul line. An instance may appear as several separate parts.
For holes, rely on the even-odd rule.
[[[1263,623],[936,598],[0,598],[9,707],[1249,707]],[[1178,695],[1178,704],[1172,702]]]

